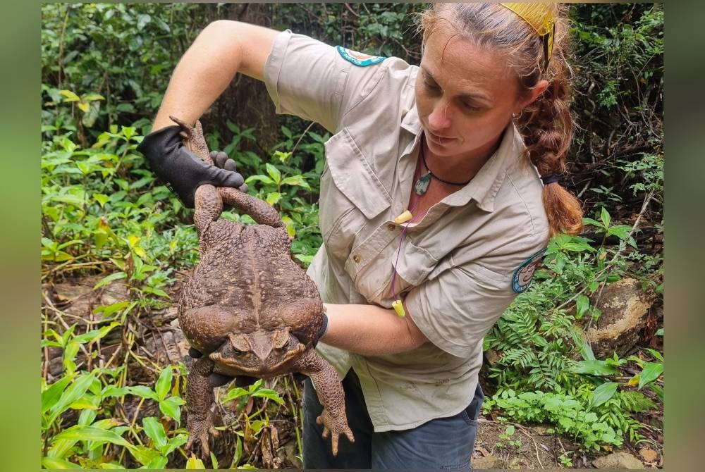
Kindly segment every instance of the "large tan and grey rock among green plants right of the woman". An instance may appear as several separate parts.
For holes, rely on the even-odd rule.
[[[587,338],[597,359],[624,356],[639,342],[651,306],[651,296],[644,293],[639,280],[625,278],[605,286],[599,299],[590,303],[602,315],[587,330]]]

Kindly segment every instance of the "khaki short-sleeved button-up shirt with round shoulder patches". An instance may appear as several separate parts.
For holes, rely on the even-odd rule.
[[[472,181],[408,225],[400,245],[403,225],[393,220],[407,207],[422,137],[417,70],[285,31],[264,71],[277,113],[334,133],[321,176],[324,245],[308,269],[324,302],[391,308],[396,263],[396,292],[430,341],[384,356],[318,345],[341,378],[355,369],[376,431],[414,428],[470,404],[482,338],[515,298],[517,268],[548,240],[541,181],[520,159],[525,147],[510,125]]]

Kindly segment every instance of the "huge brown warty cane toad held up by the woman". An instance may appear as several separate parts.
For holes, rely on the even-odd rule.
[[[181,127],[185,146],[213,163],[200,123]],[[223,202],[250,215],[259,225],[219,219]],[[276,210],[233,188],[201,185],[195,194],[194,223],[200,262],[178,300],[181,329],[204,355],[188,375],[186,448],[197,440],[209,454],[208,435],[217,434],[209,413],[213,403],[211,373],[269,378],[283,373],[308,375],[323,413],[317,419],[324,437],[353,441],[345,418],[343,387],[336,370],[314,350],[323,323],[319,292],[290,256],[290,240]]]

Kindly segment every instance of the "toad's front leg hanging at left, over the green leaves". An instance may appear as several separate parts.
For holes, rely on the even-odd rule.
[[[208,376],[213,372],[213,361],[207,356],[196,359],[188,373],[186,385],[186,426],[188,427],[188,442],[186,449],[190,450],[193,442],[198,440],[201,444],[202,457],[208,457],[209,433],[218,437],[219,432],[213,426],[211,405],[213,404],[213,387],[208,383]]]

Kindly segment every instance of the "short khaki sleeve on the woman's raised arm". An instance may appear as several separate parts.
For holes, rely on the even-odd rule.
[[[379,67],[357,67],[336,48],[289,30],[275,39],[264,83],[276,113],[300,116],[338,131],[341,117],[364,98]]]

